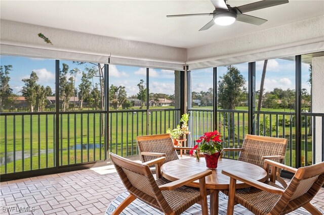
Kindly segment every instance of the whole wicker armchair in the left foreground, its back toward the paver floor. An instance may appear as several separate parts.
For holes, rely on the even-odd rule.
[[[121,213],[136,198],[165,214],[181,214],[194,203],[200,203],[202,214],[208,214],[208,193],[205,177],[212,174],[211,170],[205,170],[174,182],[163,177],[155,181],[148,165],[161,163],[166,159],[165,157],[144,164],[136,163],[113,153],[110,153],[110,157],[120,179],[130,193],[114,210],[113,214]],[[185,186],[195,180],[199,180],[199,188]]]

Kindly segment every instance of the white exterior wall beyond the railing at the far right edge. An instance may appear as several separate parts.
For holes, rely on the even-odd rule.
[[[312,59],[312,112],[324,113],[324,57]],[[315,163],[320,163],[322,160],[322,121],[316,117],[315,132],[316,132],[316,153]]]

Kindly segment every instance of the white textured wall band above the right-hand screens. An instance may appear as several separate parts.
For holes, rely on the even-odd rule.
[[[324,50],[324,16],[187,49],[189,69],[295,56]]]

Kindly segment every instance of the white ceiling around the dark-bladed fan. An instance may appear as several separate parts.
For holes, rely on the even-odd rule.
[[[257,1],[229,0],[232,7]],[[1,19],[126,40],[191,48],[251,32],[324,15],[323,0],[290,0],[288,4],[246,13],[267,19],[257,26],[236,21],[198,31],[211,16],[166,18],[166,15],[211,13],[200,1],[3,1]]]

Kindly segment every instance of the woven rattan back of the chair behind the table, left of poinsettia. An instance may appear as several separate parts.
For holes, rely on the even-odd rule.
[[[165,153],[166,161],[179,159],[177,151],[174,150],[174,144],[170,134],[157,134],[157,135],[147,135],[138,136],[137,145],[139,152],[155,152],[155,153]],[[148,162],[156,157],[141,155],[142,162]]]

